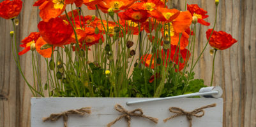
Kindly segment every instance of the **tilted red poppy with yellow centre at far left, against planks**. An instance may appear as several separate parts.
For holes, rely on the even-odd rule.
[[[25,39],[21,41],[22,44],[20,44],[20,47],[23,47],[24,50],[19,52],[19,55],[24,55],[27,53],[27,51],[31,50],[30,46],[33,43],[36,43],[37,39],[40,37],[39,32],[31,32],[29,36],[27,36]]]

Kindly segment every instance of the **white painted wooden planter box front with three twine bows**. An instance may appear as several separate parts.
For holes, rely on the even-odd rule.
[[[91,107],[90,115],[69,116],[68,127],[80,126],[106,126],[120,116],[120,112],[114,109],[114,105],[120,104],[130,111],[140,108],[144,115],[156,117],[158,124],[149,121],[146,118],[132,117],[132,127],[186,127],[188,120],[186,116],[179,116],[163,123],[163,119],[174,115],[169,112],[169,107],[181,107],[186,111],[192,111],[199,107],[216,104],[205,110],[203,117],[193,117],[192,123],[195,127],[220,127],[222,126],[223,99],[222,98],[179,98],[173,100],[162,100],[157,102],[146,102],[144,104],[126,105],[128,101],[146,100],[148,98],[31,98],[31,127],[62,127],[63,119],[58,121],[46,121],[43,123],[42,117],[48,117],[52,113],[60,113],[71,109],[80,109],[81,107]],[[117,121],[112,127],[126,127],[125,119]]]

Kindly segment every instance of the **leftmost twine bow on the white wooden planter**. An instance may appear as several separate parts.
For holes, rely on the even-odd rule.
[[[61,112],[59,114],[51,114],[49,117],[43,117],[43,122],[48,120],[57,121],[62,116],[64,121],[64,127],[67,127],[68,115],[75,114],[75,115],[84,116],[84,114],[86,113],[91,114],[91,107],[82,107],[81,109],[68,110],[65,112]]]

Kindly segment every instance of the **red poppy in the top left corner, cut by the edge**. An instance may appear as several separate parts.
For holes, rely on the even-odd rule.
[[[6,0],[0,3],[0,17],[6,20],[15,18],[20,14],[22,9],[22,1],[20,0]]]

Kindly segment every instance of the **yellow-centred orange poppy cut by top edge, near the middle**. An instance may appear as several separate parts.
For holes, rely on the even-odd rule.
[[[98,7],[104,13],[108,13],[109,9],[112,9],[114,12],[120,10],[126,10],[129,6],[135,3],[137,0],[102,0],[98,3]]]

